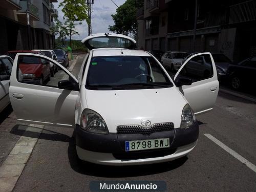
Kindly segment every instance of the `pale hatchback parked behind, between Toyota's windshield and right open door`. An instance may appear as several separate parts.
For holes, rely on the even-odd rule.
[[[161,63],[166,69],[170,71],[179,70],[182,66],[182,60],[187,56],[186,52],[167,51],[161,58]]]

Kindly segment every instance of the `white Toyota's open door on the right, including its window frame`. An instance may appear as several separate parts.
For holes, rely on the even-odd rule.
[[[189,57],[175,75],[175,84],[180,79],[191,80],[190,85],[177,87],[195,114],[212,110],[219,92],[219,81],[210,53],[198,53]]]

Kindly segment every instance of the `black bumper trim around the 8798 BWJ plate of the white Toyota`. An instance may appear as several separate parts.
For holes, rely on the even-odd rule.
[[[120,156],[120,154],[136,154],[136,153],[148,153],[148,152],[164,152],[168,150],[176,150],[177,147],[187,145],[195,142],[199,135],[199,126],[196,122],[187,129],[174,129],[172,131],[156,132],[151,135],[142,134],[116,134],[110,133],[108,135],[95,134],[87,132],[76,125],[76,145],[87,151],[100,152],[100,153],[112,153]],[[125,152],[125,141],[132,140],[145,140],[145,139],[156,139],[156,138],[169,138],[170,147],[159,150],[147,150],[140,152]],[[170,153],[169,151],[167,153]],[[153,154],[152,154],[153,155]],[[154,156],[154,155],[153,155]]]

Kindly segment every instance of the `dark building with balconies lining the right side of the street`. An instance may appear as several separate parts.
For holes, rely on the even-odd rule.
[[[156,5],[157,11],[148,4]],[[166,27],[161,28],[163,15]],[[147,0],[143,17],[137,19],[139,48],[224,53],[234,61],[256,55],[255,0],[198,0],[197,6],[195,0]]]

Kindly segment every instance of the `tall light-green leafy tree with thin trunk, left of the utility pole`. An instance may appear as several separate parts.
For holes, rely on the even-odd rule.
[[[69,46],[71,47],[72,35],[78,34],[75,26],[81,25],[83,20],[86,20],[87,24],[89,24],[88,7],[84,0],[64,0],[59,4],[59,7],[62,7],[63,19],[66,19],[64,26],[68,29]]]

